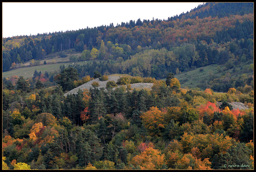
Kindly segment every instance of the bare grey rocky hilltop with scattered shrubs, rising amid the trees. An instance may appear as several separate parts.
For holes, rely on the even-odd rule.
[[[83,85],[80,85],[79,87],[76,87],[70,91],[68,91],[68,93],[65,93],[64,96],[67,96],[68,94],[77,94],[78,90],[84,90],[84,89],[90,89],[92,87],[92,83],[94,81],[97,81],[99,83],[99,87],[98,88],[106,88],[106,84],[108,81],[114,81],[115,83],[118,81],[118,79],[120,78],[121,76],[108,76],[108,80],[107,81],[100,81],[99,78],[97,79],[93,79],[87,83],[84,83]],[[153,86],[153,83],[134,83],[134,84],[131,84],[131,88],[134,89],[134,88],[141,88],[141,89],[144,89],[144,88],[148,88],[148,89],[151,89],[151,87]]]

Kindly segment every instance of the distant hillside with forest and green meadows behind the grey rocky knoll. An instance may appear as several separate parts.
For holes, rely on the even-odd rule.
[[[253,87],[253,27],[253,3],[206,3],[168,20],[138,19],[118,26],[4,38],[3,76],[29,78],[38,69],[55,77],[59,66],[48,64],[61,62],[74,63],[80,78],[99,71],[164,79],[172,72],[189,88],[226,92],[229,87]],[[40,65],[44,61],[45,68]],[[11,70],[30,63],[33,71]],[[223,73],[236,77],[228,82],[216,78]],[[235,81],[244,74],[244,83]]]

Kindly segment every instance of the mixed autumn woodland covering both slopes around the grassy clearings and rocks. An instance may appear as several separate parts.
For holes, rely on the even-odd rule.
[[[254,76],[245,74],[254,70],[253,11],[253,3],[206,3],[168,20],[3,38],[3,71],[66,50],[89,62],[2,79],[2,168],[254,169]],[[224,72],[200,89],[174,75],[247,61],[240,77]],[[126,75],[64,96],[114,73]],[[143,82],[152,89],[129,87]]]

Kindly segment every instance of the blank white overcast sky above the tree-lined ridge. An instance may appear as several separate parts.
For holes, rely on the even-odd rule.
[[[2,37],[168,19],[203,2],[2,2]]]

